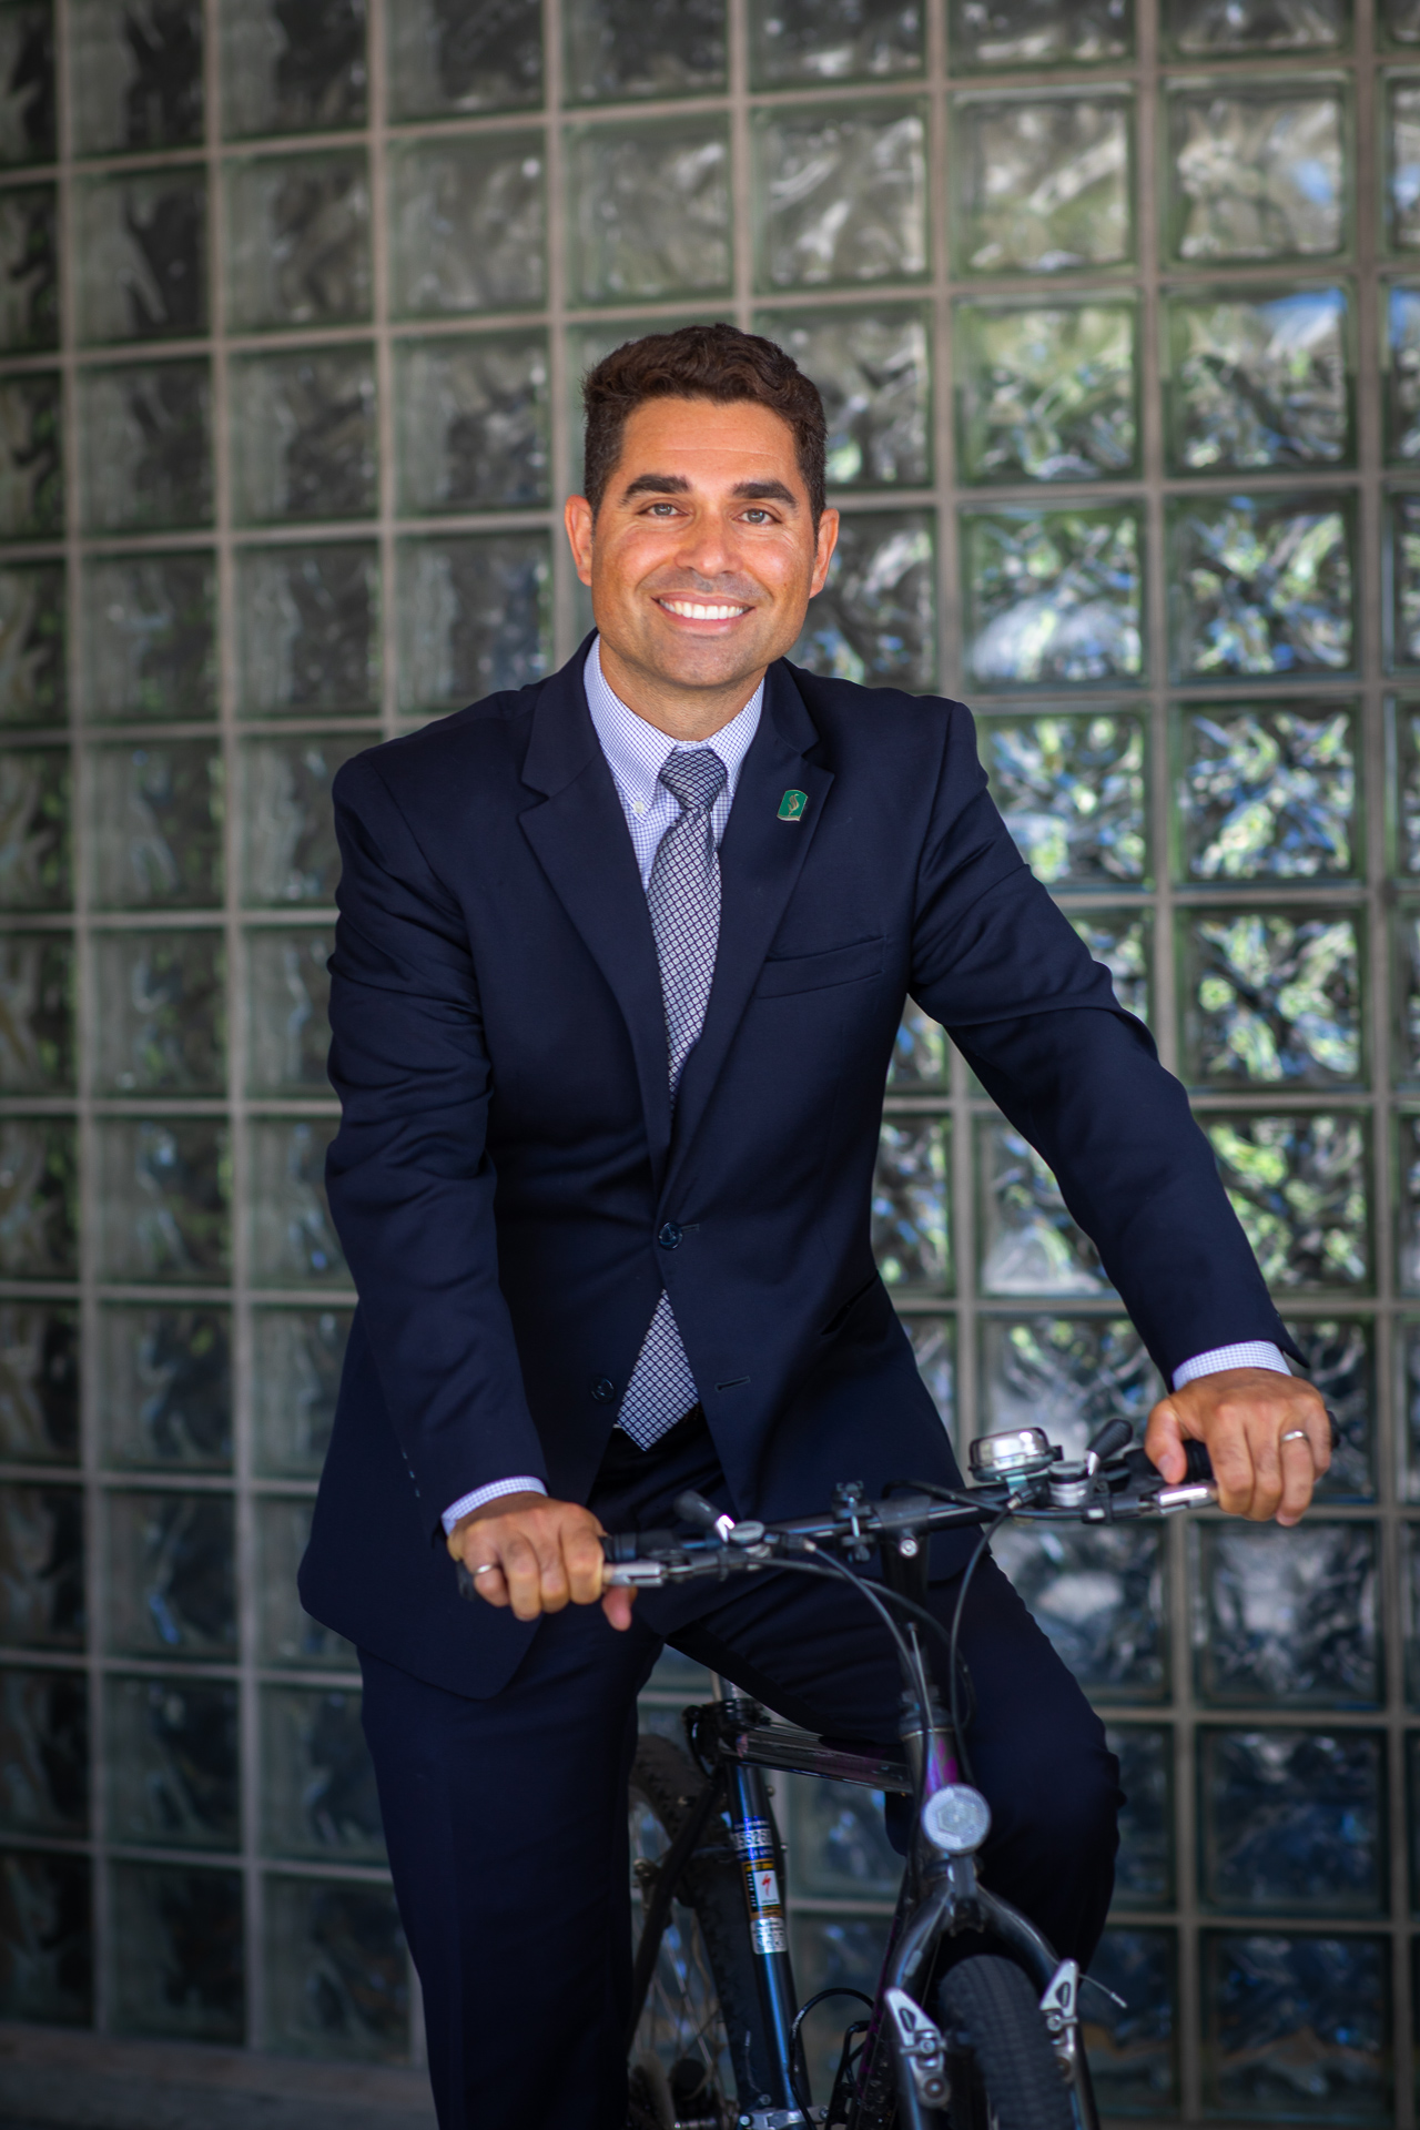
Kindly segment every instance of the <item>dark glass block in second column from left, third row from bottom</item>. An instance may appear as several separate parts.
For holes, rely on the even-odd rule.
[[[109,1493],[104,1642],[126,1657],[236,1661],[236,1527],[226,1493]]]

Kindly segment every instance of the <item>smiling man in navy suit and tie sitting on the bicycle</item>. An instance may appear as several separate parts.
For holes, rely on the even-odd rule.
[[[894,1738],[852,1593],[632,1610],[598,1531],[686,1485],[781,1517],[841,1478],[958,1482],[869,1248],[909,993],[1094,1238],[1171,1387],[1162,1472],[1201,1438],[1224,1508],[1294,1523],[1331,1455],[1184,1093],[1022,865],[969,714],[786,662],[837,539],[813,386],[686,328],[585,405],[596,635],[336,780],[328,1178],[360,1310],[302,1595],[360,1646],[445,2130],[626,2119],[626,1772],[666,1640]],[[967,1544],[937,1542],[943,1617]],[[964,1651],[988,1879],[1088,1960],[1101,1725],[990,1561]]]

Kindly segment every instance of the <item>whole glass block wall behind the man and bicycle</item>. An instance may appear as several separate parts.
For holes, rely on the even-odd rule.
[[[800,658],[973,701],[1343,1425],[1297,1534],[1003,1540],[1126,1764],[1107,2107],[1409,2124],[1414,0],[0,0],[0,2015],[417,2060],[292,1585],[328,784],[573,650],[577,377],[688,317],[820,379]],[[875,1220],[947,1425],[1147,1410],[911,1016]],[[860,1981],[873,1810],[783,1802],[803,1985]]]

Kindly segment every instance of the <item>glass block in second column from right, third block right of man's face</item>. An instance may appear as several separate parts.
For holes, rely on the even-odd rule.
[[[1177,679],[1348,671],[1350,498],[1188,496],[1169,518]]]

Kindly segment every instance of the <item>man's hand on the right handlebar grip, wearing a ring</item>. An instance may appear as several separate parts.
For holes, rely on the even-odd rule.
[[[1184,1442],[1207,1444],[1218,1506],[1254,1523],[1299,1523],[1331,1463],[1320,1395],[1269,1367],[1220,1367],[1160,1397],[1143,1446],[1171,1487],[1186,1476]]]

